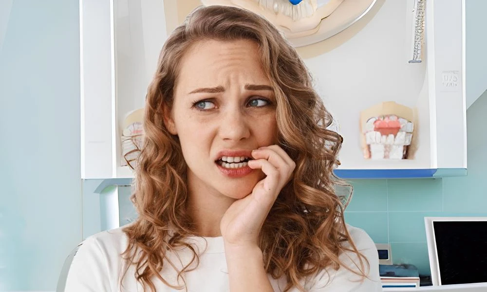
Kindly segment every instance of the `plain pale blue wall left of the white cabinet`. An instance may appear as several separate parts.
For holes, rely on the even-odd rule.
[[[1,1],[0,291],[54,291],[81,240],[79,2]]]

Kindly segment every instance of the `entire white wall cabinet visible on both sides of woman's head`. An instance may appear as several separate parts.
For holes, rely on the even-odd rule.
[[[123,119],[143,107],[166,27],[174,27],[175,16],[190,10],[181,5],[193,2],[117,0],[114,6],[111,0],[80,1],[83,179],[132,176],[120,166]],[[426,1],[421,63],[408,63],[414,0],[378,2],[368,17],[337,36],[298,49],[344,137],[337,175],[464,175],[465,0]],[[414,109],[412,159],[363,156],[360,112],[386,101]]]

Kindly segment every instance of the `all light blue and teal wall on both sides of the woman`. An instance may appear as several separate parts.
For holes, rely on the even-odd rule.
[[[54,291],[65,256],[100,221],[99,182],[80,180],[79,3],[12,3],[0,46],[0,291]],[[487,88],[486,6],[467,0],[469,99]],[[395,262],[429,272],[424,216],[487,216],[486,99],[468,110],[467,177],[353,182],[347,221],[391,242]]]

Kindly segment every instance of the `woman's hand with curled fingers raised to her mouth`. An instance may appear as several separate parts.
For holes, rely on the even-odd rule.
[[[252,151],[252,157],[254,160],[250,160],[248,166],[261,169],[266,177],[255,185],[251,194],[235,201],[226,210],[220,222],[225,249],[258,246],[264,220],[296,167],[294,161],[277,145],[260,147]]]

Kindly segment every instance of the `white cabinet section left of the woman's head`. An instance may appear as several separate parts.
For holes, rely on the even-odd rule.
[[[131,178],[122,125],[144,107],[166,40],[161,0],[80,0],[81,178]]]

